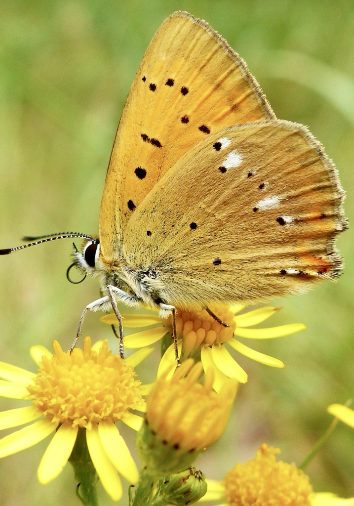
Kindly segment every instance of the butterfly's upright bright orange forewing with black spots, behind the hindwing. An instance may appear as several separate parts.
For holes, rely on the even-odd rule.
[[[244,61],[207,23],[176,12],[160,26],[130,89],[100,212],[115,257],[134,209],[191,147],[226,126],[274,118]]]

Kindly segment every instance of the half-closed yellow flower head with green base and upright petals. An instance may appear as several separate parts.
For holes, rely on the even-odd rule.
[[[153,385],[146,403],[145,423],[137,436],[143,467],[151,474],[178,473],[223,433],[237,382],[228,379],[219,393],[212,390],[213,372],[187,359],[171,377],[165,371]],[[184,377],[185,376],[185,377]]]

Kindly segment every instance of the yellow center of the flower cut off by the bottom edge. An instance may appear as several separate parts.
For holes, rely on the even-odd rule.
[[[224,479],[230,506],[310,506],[312,486],[294,463],[276,460],[279,448],[263,443],[256,458],[236,464]]]

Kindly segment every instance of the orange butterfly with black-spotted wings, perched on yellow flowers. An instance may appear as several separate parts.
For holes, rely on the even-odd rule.
[[[77,338],[86,311],[112,306],[122,340],[117,301],[166,317],[175,307],[255,304],[335,278],[342,201],[321,144],[305,126],[277,119],[242,58],[206,22],[178,11],[157,30],[128,94],[99,238],[35,243],[85,238],[73,265],[99,277],[102,297],[85,308]]]

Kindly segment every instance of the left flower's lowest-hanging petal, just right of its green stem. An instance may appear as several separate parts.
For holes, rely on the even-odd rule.
[[[97,424],[93,424],[91,431],[86,429],[86,441],[93,465],[95,466],[103,488],[113,501],[119,501],[123,495],[122,483],[117,470],[102,446]]]

